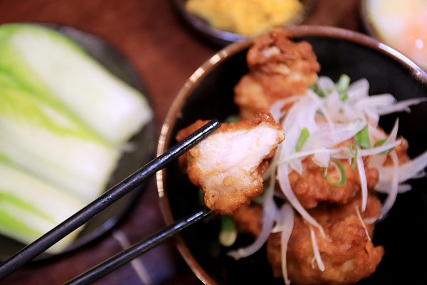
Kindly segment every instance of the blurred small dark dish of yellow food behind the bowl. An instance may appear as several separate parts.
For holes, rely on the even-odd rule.
[[[197,36],[218,46],[242,41],[272,26],[301,24],[315,8],[315,0],[172,0],[172,4]]]

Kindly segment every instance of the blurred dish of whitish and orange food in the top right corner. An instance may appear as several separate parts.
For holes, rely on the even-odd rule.
[[[427,70],[427,1],[362,0],[368,33]]]

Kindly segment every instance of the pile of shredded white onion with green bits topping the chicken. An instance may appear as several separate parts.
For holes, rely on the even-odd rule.
[[[349,82],[348,76],[347,78],[343,76],[340,80]],[[379,128],[378,123],[381,115],[398,111],[409,112],[411,105],[424,102],[426,98],[398,102],[391,94],[369,95],[369,82],[366,79],[349,84],[347,90],[342,90],[342,86],[338,84],[339,81],[334,83],[331,78],[321,76],[316,85],[307,89],[305,94],[280,100],[271,108],[273,118],[283,126],[285,140],[279,145],[264,174],[264,178],[269,179],[270,186],[265,190],[268,191],[268,195],[263,201],[262,233],[251,246],[229,253],[236,259],[246,257],[262,247],[271,232],[282,231],[281,254],[285,284],[290,284],[286,268],[286,248],[293,227],[292,208],[309,224],[315,256],[313,261],[316,261],[318,269],[325,270],[315,229],[320,231],[320,237],[323,239],[329,239],[329,237],[325,234],[322,225],[302,207],[288,177],[291,172],[304,175],[303,160],[308,157],[325,170],[334,163],[335,171],[340,173],[344,183],[346,173],[343,167],[339,167],[339,161],[347,160],[357,167],[362,192],[360,205],[362,211],[366,209],[368,199],[365,167],[378,169],[379,182],[375,190],[388,194],[382,208],[383,216],[393,206],[398,193],[410,189],[410,185],[402,184],[403,182],[425,175],[427,151],[399,165],[399,157],[394,151],[394,147],[401,144],[401,140],[396,139],[399,120],[396,120],[389,135]],[[357,144],[350,143],[347,147],[350,141],[356,141]],[[384,165],[388,157],[391,165]],[[327,175],[324,176],[327,180]],[[275,180],[285,199],[285,206],[280,210],[273,200],[273,196],[280,197],[280,195],[273,195]],[[372,217],[364,221],[359,208],[357,208],[357,216],[366,232],[364,223],[374,223],[379,219],[379,217]],[[367,236],[371,239],[368,232]]]

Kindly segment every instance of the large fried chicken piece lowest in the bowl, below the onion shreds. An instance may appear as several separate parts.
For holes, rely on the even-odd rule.
[[[357,217],[360,203],[361,199],[357,197],[344,206],[327,205],[310,212],[322,224],[327,235],[324,239],[316,230],[324,271],[314,260],[309,226],[300,216],[295,216],[287,252],[288,275],[292,284],[354,284],[374,273],[384,255],[384,248],[371,242],[374,224],[365,224],[364,227]],[[379,199],[369,195],[367,209],[360,214],[362,219],[379,217]],[[267,242],[268,261],[276,277],[283,276],[280,247],[280,233],[271,234]]]

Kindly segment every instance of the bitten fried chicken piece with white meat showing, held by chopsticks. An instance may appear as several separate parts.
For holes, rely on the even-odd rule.
[[[180,131],[177,138],[189,130]],[[251,120],[222,123],[192,147],[186,155],[186,171],[191,182],[204,190],[206,207],[218,214],[233,214],[260,195],[267,160],[283,139],[282,126],[270,114],[260,113]]]

